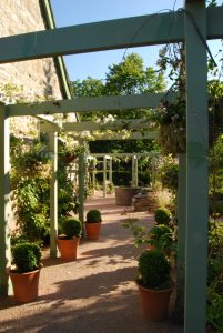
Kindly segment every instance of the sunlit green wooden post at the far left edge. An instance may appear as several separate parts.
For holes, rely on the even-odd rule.
[[[11,265],[10,253],[10,186],[9,186],[9,118],[0,105],[0,295],[8,295],[10,282],[7,268]]]

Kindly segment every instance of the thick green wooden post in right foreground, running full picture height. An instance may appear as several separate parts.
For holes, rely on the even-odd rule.
[[[186,333],[203,333],[206,321],[209,221],[207,65],[203,42],[206,40],[205,1],[186,0],[185,10],[187,154],[184,330]]]

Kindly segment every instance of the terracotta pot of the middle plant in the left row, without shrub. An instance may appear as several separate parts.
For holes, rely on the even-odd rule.
[[[72,240],[58,239],[58,248],[61,259],[64,261],[75,260],[80,238]]]

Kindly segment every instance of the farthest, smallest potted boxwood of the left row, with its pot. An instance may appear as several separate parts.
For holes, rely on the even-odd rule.
[[[89,240],[98,240],[101,231],[101,212],[99,210],[90,210],[87,213],[85,232]]]

